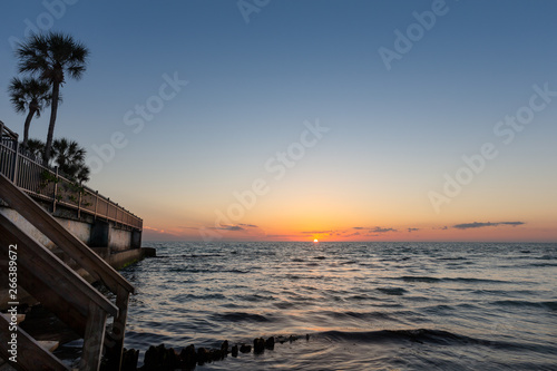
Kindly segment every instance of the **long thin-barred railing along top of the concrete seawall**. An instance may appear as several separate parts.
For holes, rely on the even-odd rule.
[[[52,212],[58,206],[76,209],[94,217],[111,221],[123,226],[143,230],[143,219],[117,203],[87,186],[78,185],[58,173],[42,166],[40,160],[20,147],[18,135],[0,121],[0,174],[31,197],[50,202]]]

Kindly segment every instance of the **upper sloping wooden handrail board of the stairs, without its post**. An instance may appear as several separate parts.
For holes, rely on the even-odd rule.
[[[0,174],[0,198],[31,222],[42,234],[75,260],[95,280],[102,282],[113,293],[118,294],[121,292],[119,287],[129,293],[135,292],[134,286],[107,262],[60,225],[47,211],[2,174]]]

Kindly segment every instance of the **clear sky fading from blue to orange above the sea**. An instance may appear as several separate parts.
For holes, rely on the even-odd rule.
[[[55,137],[144,241],[557,241],[554,1],[0,8],[0,120],[17,42],[87,46]]]

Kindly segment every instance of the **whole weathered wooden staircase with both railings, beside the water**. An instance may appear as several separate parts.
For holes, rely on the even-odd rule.
[[[80,370],[99,370],[102,350],[111,354],[110,370],[119,370],[124,348],[129,294],[135,292],[118,272],[85,243],[68,232],[47,211],[0,174],[0,198],[62,250],[78,266],[116,295],[110,302],[50,250],[0,214],[0,258],[9,258],[9,245],[17,244],[18,285],[82,336]],[[7,265],[2,265],[4,267]],[[8,272],[6,272],[8,274]],[[113,330],[105,333],[107,316]],[[18,329],[18,370],[68,370],[23,330]],[[8,321],[0,315],[0,355],[8,360],[11,336]]]

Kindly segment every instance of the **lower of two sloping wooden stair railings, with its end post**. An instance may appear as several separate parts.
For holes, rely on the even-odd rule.
[[[18,285],[84,336],[82,369],[98,370],[106,319],[108,314],[116,316],[118,309],[59,257],[1,214],[0,243],[0,256],[4,260],[9,258],[8,246],[18,245]],[[2,332],[8,332],[8,328],[2,329]],[[35,355],[18,354],[20,364],[30,362]],[[32,370],[37,365],[31,362],[30,368],[23,369]]]

